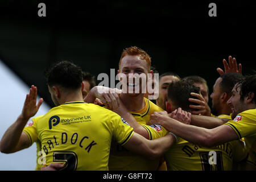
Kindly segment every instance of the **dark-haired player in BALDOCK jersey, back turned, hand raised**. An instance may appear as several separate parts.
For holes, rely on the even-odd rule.
[[[108,170],[112,138],[130,151],[149,159],[158,158],[175,141],[173,135],[147,140],[134,133],[133,128],[118,114],[103,107],[86,104],[82,98],[82,72],[68,61],[56,63],[47,72],[47,83],[56,105],[39,119],[36,130],[41,141],[46,165],[64,163],[69,170]],[[37,89],[32,85],[27,94],[22,114],[13,127],[24,127],[38,111]],[[9,128],[10,130],[12,127]],[[7,131],[8,132],[8,131]],[[16,137],[20,136],[22,130]],[[5,151],[6,135],[0,143]],[[29,141],[24,141],[28,143]]]

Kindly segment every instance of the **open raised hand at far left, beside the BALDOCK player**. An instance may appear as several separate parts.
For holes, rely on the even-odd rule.
[[[30,93],[26,96],[26,100],[22,109],[21,115],[24,119],[29,119],[34,116],[38,112],[39,107],[42,105],[43,98],[40,98],[38,104],[36,104],[37,95],[38,89],[36,88],[36,86],[32,85],[30,88]]]

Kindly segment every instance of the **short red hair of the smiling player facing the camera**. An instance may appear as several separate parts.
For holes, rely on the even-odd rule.
[[[119,60],[119,68],[120,68],[121,61],[122,61],[123,57],[125,57],[127,55],[139,56],[142,60],[145,60],[147,62],[149,69],[151,68],[151,57],[147,54],[147,52],[143,51],[142,49],[140,49],[136,46],[127,47],[127,48],[123,49],[121,58]]]

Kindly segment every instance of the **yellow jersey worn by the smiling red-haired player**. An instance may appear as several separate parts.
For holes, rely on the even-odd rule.
[[[150,115],[154,111],[163,111],[160,107],[156,106],[147,98],[144,98],[144,107],[138,111],[132,111],[131,114],[136,119],[136,121],[141,124],[147,131],[150,139],[156,139],[163,137],[168,133],[164,127],[160,125],[148,126],[146,123],[150,120]],[[159,160],[148,160],[126,150],[126,148],[117,144],[117,142],[112,143],[110,156],[109,156],[109,170],[115,171],[142,171],[142,170],[156,170],[159,166]]]

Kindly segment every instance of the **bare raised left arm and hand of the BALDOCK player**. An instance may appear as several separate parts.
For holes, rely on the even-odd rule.
[[[23,148],[27,148],[30,145],[30,140],[26,133],[23,132],[24,126],[32,116],[34,116],[39,107],[43,103],[43,99],[40,98],[36,105],[37,88],[32,85],[30,93],[27,94],[22,113],[17,120],[11,125],[3,134],[0,142],[0,151],[3,153],[12,153]]]

